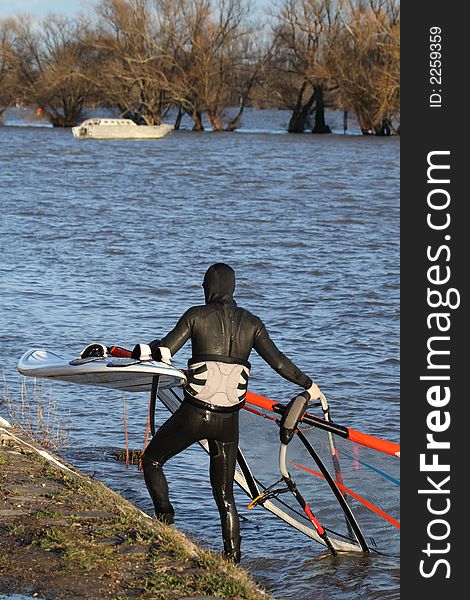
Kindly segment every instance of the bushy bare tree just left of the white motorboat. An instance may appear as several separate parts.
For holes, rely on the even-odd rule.
[[[94,95],[95,57],[81,21],[49,16],[36,27],[19,17],[14,25],[17,95],[39,106],[55,127],[71,127]]]

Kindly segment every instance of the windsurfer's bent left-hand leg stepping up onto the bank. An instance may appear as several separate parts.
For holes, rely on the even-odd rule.
[[[163,465],[172,456],[199,440],[201,418],[198,410],[184,403],[155,433],[142,456],[144,479],[155,508],[155,516],[174,523],[168,482]]]

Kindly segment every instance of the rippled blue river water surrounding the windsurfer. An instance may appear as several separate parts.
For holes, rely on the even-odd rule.
[[[239,304],[318,382],[335,420],[399,440],[399,140],[339,129],[289,135],[287,118],[249,111],[236,133],[179,131],[157,141],[0,127],[1,359],[10,396],[17,360],[31,347],[74,357],[94,341],[132,347],[164,335],[203,301],[204,271],[223,261],[237,272]],[[184,348],[174,363],[188,357]],[[251,358],[252,391],[294,395]],[[44,390],[70,415],[65,458],[151,512],[141,474],[112,454],[124,447],[120,394],[49,382]],[[140,448],[147,398],[126,402],[130,445]],[[160,407],[158,421],[166,416]],[[256,447],[258,433],[242,436]],[[270,435],[263,444],[275,454]],[[167,475],[178,527],[220,550],[207,466],[193,447]],[[242,564],[276,598],[399,597],[398,558],[322,558],[320,546],[237,499]]]

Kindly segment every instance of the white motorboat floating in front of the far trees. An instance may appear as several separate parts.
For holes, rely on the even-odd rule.
[[[137,125],[130,119],[87,119],[72,127],[74,138],[95,140],[158,139],[173,129],[173,125]]]

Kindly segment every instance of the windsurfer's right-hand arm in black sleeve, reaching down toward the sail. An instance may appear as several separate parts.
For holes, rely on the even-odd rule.
[[[320,389],[318,386],[279,350],[269,337],[268,331],[263,323],[260,323],[253,347],[261,358],[279,373],[281,377],[284,377],[284,379],[307,390],[312,400],[319,398]]]

